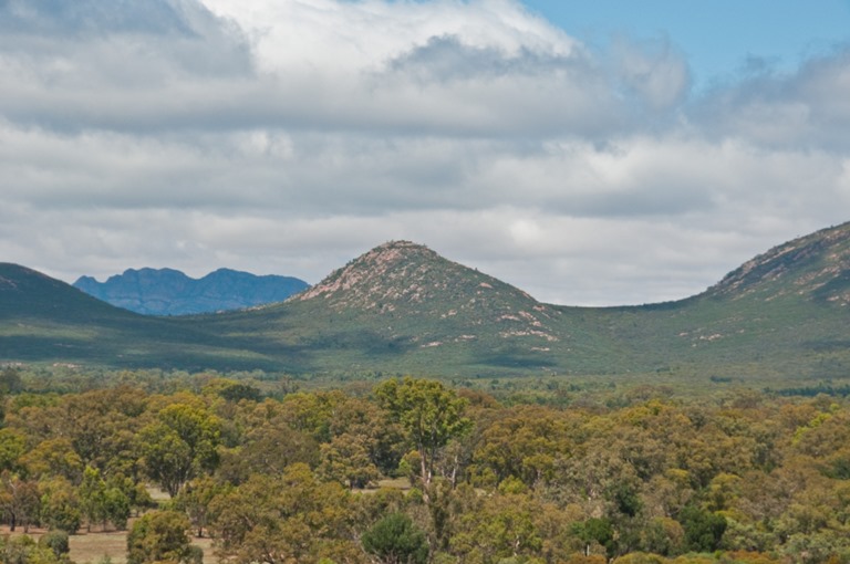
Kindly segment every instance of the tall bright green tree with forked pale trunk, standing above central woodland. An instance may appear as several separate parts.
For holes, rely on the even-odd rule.
[[[471,428],[471,421],[464,417],[467,401],[439,382],[411,377],[380,384],[375,396],[418,451],[419,478],[427,500],[438,449]]]

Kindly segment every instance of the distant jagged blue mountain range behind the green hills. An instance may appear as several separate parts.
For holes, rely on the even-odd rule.
[[[308,288],[291,276],[258,276],[219,269],[196,280],[172,269],[129,269],[97,282],[81,276],[73,284],[112,305],[147,315],[185,315],[239,310],[282,302]]]

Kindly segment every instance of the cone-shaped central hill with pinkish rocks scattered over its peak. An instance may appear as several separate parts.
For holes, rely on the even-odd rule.
[[[603,338],[576,335],[562,317],[557,307],[431,249],[393,241],[283,304],[208,323],[216,334],[263,335],[257,346],[268,354],[294,346],[313,370],[455,374],[540,370],[556,363],[557,348],[604,346]]]

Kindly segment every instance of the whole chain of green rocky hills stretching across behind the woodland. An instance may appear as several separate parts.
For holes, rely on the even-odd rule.
[[[698,295],[628,307],[543,304],[410,241],[376,247],[286,302],[199,316],[135,315],[14,268],[0,269],[0,362],[340,376],[652,374],[694,386],[850,376],[850,223],[776,247]],[[24,283],[33,276],[38,288]],[[56,334],[75,346],[48,346]]]

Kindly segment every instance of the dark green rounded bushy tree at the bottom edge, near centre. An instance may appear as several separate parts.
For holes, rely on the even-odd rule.
[[[391,513],[361,537],[363,549],[382,564],[425,564],[428,541],[404,513]]]

